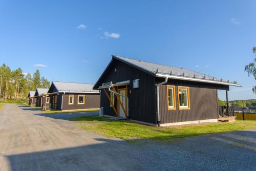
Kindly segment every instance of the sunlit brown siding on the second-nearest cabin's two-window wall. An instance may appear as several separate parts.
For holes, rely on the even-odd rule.
[[[74,104],[69,104],[69,94],[63,94],[62,110],[98,109],[100,107],[99,94],[85,94],[86,99],[84,104],[77,104],[78,95],[84,95],[84,94],[72,94],[72,95],[74,95]]]

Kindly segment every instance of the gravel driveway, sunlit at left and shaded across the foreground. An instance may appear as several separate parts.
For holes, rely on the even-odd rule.
[[[0,110],[0,170],[256,170],[256,130],[172,144],[128,143],[86,132],[65,119],[5,105]]]

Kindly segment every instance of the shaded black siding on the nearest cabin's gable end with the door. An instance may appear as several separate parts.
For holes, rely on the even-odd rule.
[[[115,72],[116,69],[116,72]],[[133,80],[140,79],[140,87],[133,89]],[[126,63],[113,59],[113,63],[104,73],[99,84],[105,82],[121,82],[130,80],[128,86],[129,97],[129,118],[156,124],[156,95],[155,95],[155,77],[136,69]],[[131,93],[130,93],[131,91]],[[108,92],[109,93],[109,92]],[[101,107],[104,109],[104,115],[115,116],[114,110],[110,107],[110,102],[101,90]]]

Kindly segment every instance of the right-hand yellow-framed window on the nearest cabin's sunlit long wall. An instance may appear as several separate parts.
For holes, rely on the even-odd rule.
[[[189,110],[190,101],[189,101],[189,88],[188,87],[178,87],[178,102],[179,110]]]

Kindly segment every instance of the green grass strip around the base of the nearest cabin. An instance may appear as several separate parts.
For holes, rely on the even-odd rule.
[[[101,134],[105,137],[129,139],[172,140],[188,136],[240,131],[256,128],[256,121],[237,121],[222,123],[203,123],[172,127],[154,127],[126,120],[111,120],[109,117],[84,116],[72,119],[82,129]]]

